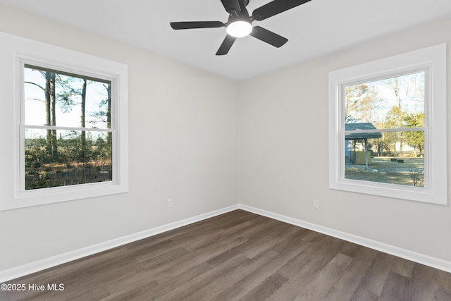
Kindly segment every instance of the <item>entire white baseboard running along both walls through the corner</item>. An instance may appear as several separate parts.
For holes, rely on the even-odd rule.
[[[200,214],[198,216],[193,216],[189,219],[183,219],[182,221],[175,221],[173,223],[168,223],[166,225],[152,228],[152,229],[149,229],[146,231],[141,231],[141,232],[134,233],[131,235],[126,235],[126,236],[123,236],[122,238],[116,238],[116,239],[109,240],[106,242],[101,242],[97,245],[83,247],[78,250],[66,252],[63,254],[58,254],[56,256],[42,259],[37,262],[31,262],[30,264],[24,264],[22,266],[16,266],[11,269],[0,271],[0,283],[10,281],[12,279],[19,278],[19,277],[22,277],[22,276],[25,276],[28,274],[32,274],[37,271],[49,269],[53,266],[58,266],[59,264],[65,264],[66,262],[71,262],[75,259],[80,259],[82,257],[96,254],[98,252],[109,250],[109,249],[112,249],[113,247],[119,247],[119,246],[125,245],[129,242],[134,242],[136,240],[148,238],[152,235],[170,231],[175,228],[180,228],[182,226],[189,225],[190,223],[196,223],[197,221],[203,221],[204,219],[209,219],[211,217],[218,216],[220,214],[224,214],[224,213],[236,210],[236,209],[242,209],[245,211],[252,212],[254,214],[259,214],[261,216],[269,217],[271,219],[276,219],[278,221],[290,223],[295,226],[307,228],[312,231],[330,235],[335,238],[340,238],[342,240],[347,240],[349,242],[354,242],[354,243],[357,243],[357,245],[363,245],[364,247],[370,247],[371,249],[374,249],[374,250],[392,254],[397,257],[402,257],[404,259],[411,260],[412,262],[418,262],[420,264],[425,264],[426,266],[432,266],[435,269],[440,269],[440,270],[451,273],[451,262],[447,262],[443,259],[438,259],[435,257],[430,257],[427,255],[419,254],[419,253],[412,252],[409,250],[404,250],[400,247],[388,245],[383,242],[369,240],[367,238],[362,238],[357,235],[352,235],[350,233],[345,233],[345,232],[337,231],[337,230],[334,230],[331,228],[326,228],[323,226],[316,225],[314,223],[309,223],[307,221],[294,219],[289,216],[276,214],[271,211],[266,211],[266,210],[258,209],[255,207],[250,207],[250,206],[247,206],[244,204],[235,204],[233,206],[226,207],[223,209],[218,209],[215,211],[211,211],[206,214]]]

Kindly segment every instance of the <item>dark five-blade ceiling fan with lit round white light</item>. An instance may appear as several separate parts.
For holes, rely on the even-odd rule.
[[[274,32],[264,29],[260,26],[252,27],[253,21],[261,21],[266,18],[283,13],[291,8],[295,8],[301,4],[311,0],[273,0],[264,6],[260,6],[252,12],[249,16],[246,6],[249,0],[221,0],[224,8],[229,13],[228,21],[222,23],[221,21],[198,21],[198,22],[171,22],[171,27],[175,30],[186,30],[192,28],[215,28],[227,27],[226,39],[222,42],[217,56],[228,54],[230,47],[232,47],[237,37],[245,37],[251,35],[263,42],[273,45],[274,47],[281,47],[288,42],[288,39],[277,35]]]

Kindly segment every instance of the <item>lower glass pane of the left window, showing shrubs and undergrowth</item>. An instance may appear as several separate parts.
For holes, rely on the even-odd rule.
[[[111,133],[25,130],[25,190],[113,180]]]

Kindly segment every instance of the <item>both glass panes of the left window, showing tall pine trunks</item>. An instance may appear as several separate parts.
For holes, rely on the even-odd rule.
[[[111,182],[111,80],[24,64],[23,92],[21,190]]]

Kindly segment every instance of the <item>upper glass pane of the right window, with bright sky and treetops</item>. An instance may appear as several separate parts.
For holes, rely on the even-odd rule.
[[[344,87],[345,123],[377,129],[424,126],[425,71]]]

